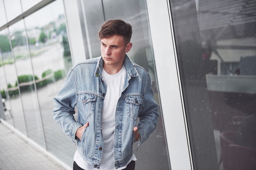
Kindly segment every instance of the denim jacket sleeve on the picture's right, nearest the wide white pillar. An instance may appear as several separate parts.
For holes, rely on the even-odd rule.
[[[144,90],[143,109],[138,115],[139,122],[137,127],[141,135],[139,145],[145,142],[149,135],[156,129],[158,116],[158,105],[154,100],[152,82],[148,75]]]

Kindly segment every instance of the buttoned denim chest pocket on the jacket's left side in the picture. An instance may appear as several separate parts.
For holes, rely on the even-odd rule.
[[[93,114],[95,102],[97,96],[93,94],[80,94],[79,95],[79,102],[81,107],[83,108],[84,116],[83,118],[86,120]]]

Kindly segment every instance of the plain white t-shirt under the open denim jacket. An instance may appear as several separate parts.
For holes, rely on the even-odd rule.
[[[103,102],[103,109],[101,113],[101,131],[103,135],[103,154],[101,158],[100,170],[122,170],[126,168],[130,161],[136,161],[133,154],[126,166],[116,169],[114,159],[114,131],[115,131],[115,112],[118,99],[121,96],[122,88],[125,80],[125,68],[117,74],[108,74],[104,69],[102,70],[103,81],[107,85],[107,92]],[[85,170],[95,170],[92,168],[76,151],[74,155],[76,164]]]

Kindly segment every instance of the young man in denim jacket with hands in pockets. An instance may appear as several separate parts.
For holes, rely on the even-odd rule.
[[[132,144],[139,146],[156,128],[150,76],[126,55],[131,35],[122,20],[103,23],[101,57],[74,65],[54,98],[54,120],[77,143],[73,169],[134,170]]]

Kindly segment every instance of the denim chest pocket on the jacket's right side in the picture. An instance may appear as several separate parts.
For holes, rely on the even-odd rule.
[[[125,101],[127,104],[127,107],[126,107],[127,116],[136,120],[138,117],[138,113],[143,109],[142,96],[139,96],[139,95],[126,96]]]

